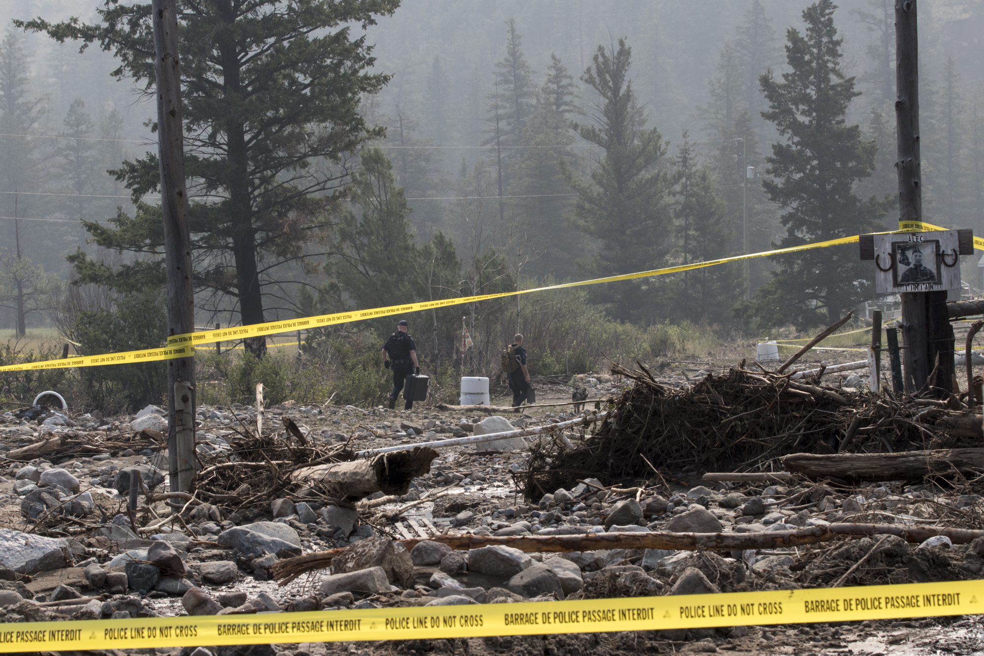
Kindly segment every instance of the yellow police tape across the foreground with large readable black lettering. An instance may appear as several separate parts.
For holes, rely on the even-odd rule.
[[[523,604],[0,624],[0,652],[409,640],[984,613],[984,581]]]

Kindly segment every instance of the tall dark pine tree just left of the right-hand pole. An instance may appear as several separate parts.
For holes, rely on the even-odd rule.
[[[854,78],[840,70],[842,39],[833,27],[834,9],[831,0],[820,0],[804,10],[805,33],[786,32],[790,71],[781,82],[771,71],[761,78],[769,100],[763,116],[783,139],[772,144],[767,158],[772,177],[763,181],[771,201],[788,208],[781,218],[786,235],[780,247],[884,230],[879,221],[888,203],[862,201],[853,193],[857,181],[871,174],[877,145],[862,139],[859,126],[845,125],[848,105],[860,93]],[[764,323],[832,322],[871,293],[869,285],[858,283],[870,280],[871,272],[856,248],[807,250],[773,260],[780,270],[753,302]]]

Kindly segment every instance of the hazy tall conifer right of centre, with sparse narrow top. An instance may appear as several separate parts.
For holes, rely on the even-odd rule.
[[[629,77],[632,48],[624,38],[617,48],[599,45],[591,62],[581,80],[596,94],[587,109],[594,124],[575,124],[575,131],[604,155],[594,163],[590,183],[561,162],[567,183],[578,193],[570,223],[601,243],[578,267],[591,277],[654,269],[672,249],[667,196],[678,176],[659,165],[667,143],[659,130],[646,128],[636,101]],[[592,288],[591,294],[619,319],[641,320],[650,311],[645,281]]]

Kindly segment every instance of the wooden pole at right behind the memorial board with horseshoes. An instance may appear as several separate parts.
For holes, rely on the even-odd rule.
[[[916,0],[895,0],[895,119],[897,124],[898,220],[922,221],[919,160],[919,39]],[[905,391],[918,392],[931,382],[950,392],[953,330],[946,292],[907,292],[902,297],[902,362]],[[938,366],[933,380],[929,377]]]

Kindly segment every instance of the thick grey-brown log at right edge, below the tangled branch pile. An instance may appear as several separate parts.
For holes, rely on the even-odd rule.
[[[789,472],[812,478],[897,481],[984,467],[984,448],[898,453],[793,453],[781,459]]]

